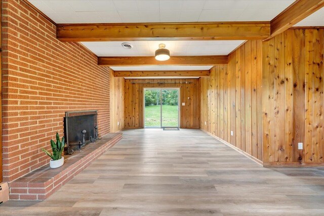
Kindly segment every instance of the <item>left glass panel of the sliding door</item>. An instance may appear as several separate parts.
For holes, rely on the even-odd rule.
[[[144,127],[161,127],[161,90],[144,89]]]

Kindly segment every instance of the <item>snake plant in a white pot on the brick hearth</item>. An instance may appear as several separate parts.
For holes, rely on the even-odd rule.
[[[52,160],[50,160],[51,168],[57,168],[63,165],[64,157],[62,157],[62,152],[64,150],[64,146],[64,137],[62,137],[62,141],[60,141],[59,133],[56,133],[56,143],[53,140],[51,140],[51,147],[53,153],[51,154],[46,149],[42,148],[42,150],[52,158]]]

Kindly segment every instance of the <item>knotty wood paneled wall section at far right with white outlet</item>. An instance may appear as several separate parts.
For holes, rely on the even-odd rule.
[[[323,164],[323,38],[290,29],[263,42],[265,165]]]

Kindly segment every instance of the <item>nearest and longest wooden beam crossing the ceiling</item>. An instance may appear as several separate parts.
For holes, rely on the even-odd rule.
[[[269,22],[57,24],[61,41],[249,40],[269,36]]]

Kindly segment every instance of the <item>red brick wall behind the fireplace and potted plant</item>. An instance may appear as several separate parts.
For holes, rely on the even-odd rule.
[[[99,110],[109,133],[109,69],[76,42],[56,39],[56,27],[23,1],[3,0],[3,176],[13,181],[45,165],[65,111]]]

